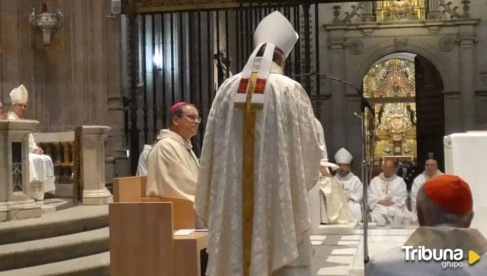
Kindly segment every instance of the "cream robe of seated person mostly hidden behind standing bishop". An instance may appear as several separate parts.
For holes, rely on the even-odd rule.
[[[350,212],[343,187],[341,183],[329,172],[329,169],[334,171],[339,167],[328,162],[323,126],[318,119],[315,119],[315,125],[317,131],[319,132],[318,136],[324,145],[324,151],[320,164],[320,177],[317,184],[319,187],[318,191],[320,193],[321,223],[346,224],[348,222],[352,222],[355,219]]]

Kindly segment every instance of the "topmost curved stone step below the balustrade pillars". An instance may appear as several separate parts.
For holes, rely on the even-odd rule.
[[[108,206],[77,206],[40,218],[0,223],[0,245],[48,239],[108,226]]]

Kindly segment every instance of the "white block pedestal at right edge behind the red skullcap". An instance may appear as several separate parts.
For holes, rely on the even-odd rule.
[[[461,177],[472,191],[475,215],[470,227],[487,236],[487,131],[451,134],[444,144],[445,173]]]

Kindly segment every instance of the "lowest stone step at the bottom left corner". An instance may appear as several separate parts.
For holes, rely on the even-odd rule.
[[[0,272],[0,276],[109,276],[110,253]]]

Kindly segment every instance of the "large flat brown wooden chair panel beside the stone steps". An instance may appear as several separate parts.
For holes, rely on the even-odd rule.
[[[172,203],[109,205],[110,275],[175,276]]]

